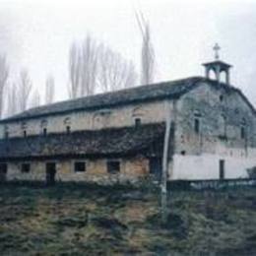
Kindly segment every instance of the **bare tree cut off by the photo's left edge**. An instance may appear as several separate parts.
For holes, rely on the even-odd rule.
[[[4,90],[7,85],[9,68],[6,62],[6,56],[0,55],[0,118],[4,108]]]

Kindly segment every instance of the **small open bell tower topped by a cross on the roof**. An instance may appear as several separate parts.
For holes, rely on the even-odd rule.
[[[232,66],[220,60],[219,51],[221,50],[221,47],[218,43],[214,45],[213,50],[215,51],[216,60],[203,64],[206,70],[206,78],[210,79],[210,72],[213,71],[215,73],[216,80],[221,82],[221,74],[224,72],[225,84],[229,85],[229,68]]]

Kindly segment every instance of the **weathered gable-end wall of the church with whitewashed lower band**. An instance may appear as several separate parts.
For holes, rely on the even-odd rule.
[[[176,116],[170,179],[219,179],[220,160],[224,178],[248,177],[256,166],[256,118],[241,96],[202,84],[179,100]]]

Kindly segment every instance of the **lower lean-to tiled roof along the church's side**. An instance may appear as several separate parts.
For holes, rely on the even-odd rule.
[[[0,160],[160,154],[164,124],[0,140]],[[156,147],[155,147],[155,146]]]

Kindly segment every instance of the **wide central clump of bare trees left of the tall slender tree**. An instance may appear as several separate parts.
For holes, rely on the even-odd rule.
[[[72,44],[69,74],[71,98],[133,87],[137,81],[132,61],[124,59],[118,52],[97,42],[90,34],[82,44]]]

